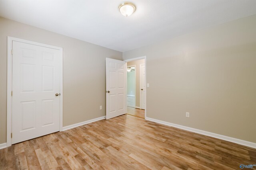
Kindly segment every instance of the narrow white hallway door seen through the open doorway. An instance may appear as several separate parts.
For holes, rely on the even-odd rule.
[[[140,108],[146,108],[145,64],[140,64]]]

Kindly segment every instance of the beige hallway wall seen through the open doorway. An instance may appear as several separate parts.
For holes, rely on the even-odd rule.
[[[141,56],[140,56],[141,57]],[[135,58],[135,57],[134,57]],[[127,62],[127,66],[132,66],[135,65],[136,66],[136,107],[140,107],[140,64],[144,64],[145,63],[145,59],[141,59],[141,60],[134,60],[134,61],[130,61]]]

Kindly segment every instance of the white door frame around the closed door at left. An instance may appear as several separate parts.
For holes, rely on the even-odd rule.
[[[63,130],[63,48],[15,37],[7,37],[7,125],[6,146],[12,145],[12,41],[60,50],[60,131]]]

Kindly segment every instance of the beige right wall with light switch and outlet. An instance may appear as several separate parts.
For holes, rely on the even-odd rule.
[[[256,142],[256,15],[127,51],[123,59],[144,55],[147,117]]]

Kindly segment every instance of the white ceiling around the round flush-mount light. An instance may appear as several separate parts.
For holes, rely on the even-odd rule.
[[[256,14],[256,0],[130,0],[126,18],[121,2],[1,0],[0,16],[123,52]]]

